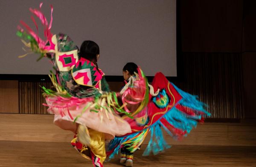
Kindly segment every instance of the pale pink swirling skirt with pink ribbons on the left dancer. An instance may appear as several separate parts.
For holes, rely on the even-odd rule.
[[[131,133],[131,127],[119,115],[102,108],[95,111],[90,105],[93,98],[78,99],[76,97],[63,98],[60,96],[46,97],[48,112],[54,114],[54,123],[64,130],[76,133],[77,124],[105,133],[105,139]],[[105,103],[107,106],[107,104]]]

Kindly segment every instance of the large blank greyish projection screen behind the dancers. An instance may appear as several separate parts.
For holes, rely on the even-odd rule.
[[[108,76],[121,76],[127,62],[135,62],[146,76],[158,71],[177,76],[176,0],[0,0],[0,74],[49,74],[46,58],[25,54],[16,36],[23,20],[33,30],[29,7],[39,8],[50,20],[52,34],[68,34],[80,48],[84,40],[99,44],[98,62]],[[41,32],[41,23],[35,17]]]

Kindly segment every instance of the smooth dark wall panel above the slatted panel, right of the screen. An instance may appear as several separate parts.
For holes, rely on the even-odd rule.
[[[182,49],[241,52],[243,0],[181,0]]]

